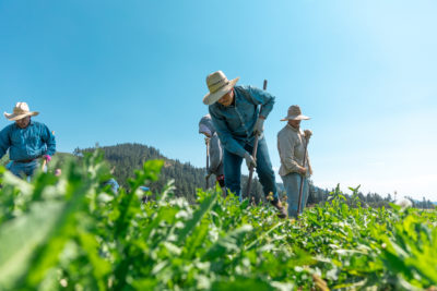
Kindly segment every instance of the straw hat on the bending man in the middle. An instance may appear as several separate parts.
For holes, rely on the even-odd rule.
[[[206,85],[210,93],[203,97],[203,104],[212,105],[215,104],[220,98],[228,93],[235,84],[238,82],[239,77],[228,81],[222,71],[216,71],[206,76]]]

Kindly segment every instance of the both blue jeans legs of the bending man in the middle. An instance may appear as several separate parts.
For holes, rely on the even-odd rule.
[[[253,147],[250,145],[244,145],[244,148],[251,154]],[[241,162],[243,158],[238,155],[234,155],[224,149],[224,171],[225,171],[225,185],[226,187],[238,195],[239,199],[243,201],[241,196]],[[272,162],[269,157],[269,149],[264,138],[258,141],[257,149],[257,173],[258,179],[261,182],[262,191],[268,196],[270,192],[273,193],[274,202],[277,201],[276,182],[272,168]]]

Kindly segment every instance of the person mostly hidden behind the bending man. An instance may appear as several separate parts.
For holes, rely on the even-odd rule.
[[[225,186],[225,175],[223,174],[223,149],[214,125],[212,124],[211,116],[204,116],[199,122],[199,133],[204,134],[208,141],[208,148],[210,153],[210,167],[206,169],[206,179],[211,174],[215,174],[215,179],[220,186]]]

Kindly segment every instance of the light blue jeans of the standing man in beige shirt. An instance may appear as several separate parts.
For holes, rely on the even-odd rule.
[[[299,204],[299,190],[302,175],[298,173],[288,173],[281,177],[287,193],[288,217],[297,217],[297,205]],[[304,187],[302,190],[300,213],[307,204],[309,194],[308,178],[304,178]]]

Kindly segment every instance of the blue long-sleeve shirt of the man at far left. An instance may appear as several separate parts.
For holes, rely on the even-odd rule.
[[[0,132],[0,158],[7,154],[11,160],[36,159],[43,155],[56,153],[55,136],[44,124],[31,119],[25,129],[16,123],[5,126]]]

